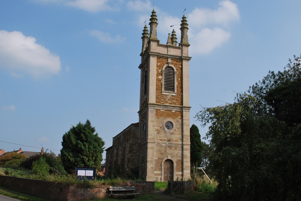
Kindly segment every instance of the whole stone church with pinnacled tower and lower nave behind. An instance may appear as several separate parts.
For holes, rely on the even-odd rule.
[[[181,21],[167,43],[157,38],[157,15],[142,33],[139,122],[113,137],[106,151],[105,176],[140,175],[145,181],[190,178],[188,23]]]

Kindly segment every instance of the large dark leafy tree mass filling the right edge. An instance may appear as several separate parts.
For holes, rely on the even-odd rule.
[[[300,57],[269,72],[235,102],[203,108],[214,147],[217,200],[300,200]]]

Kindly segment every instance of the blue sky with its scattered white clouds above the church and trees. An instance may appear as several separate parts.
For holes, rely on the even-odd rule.
[[[185,8],[191,125],[204,137],[193,119],[200,105],[233,102],[301,53],[301,12],[298,0],[157,1],[160,43],[170,25],[180,33]],[[0,0],[0,149],[58,154],[63,134],[86,119],[109,147],[138,122],[141,33],[152,9],[145,0]]]

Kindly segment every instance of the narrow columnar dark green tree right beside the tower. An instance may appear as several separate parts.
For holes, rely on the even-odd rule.
[[[196,178],[197,167],[202,162],[203,144],[201,135],[196,125],[192,124],[190,127],[190,164],[193,178]]]

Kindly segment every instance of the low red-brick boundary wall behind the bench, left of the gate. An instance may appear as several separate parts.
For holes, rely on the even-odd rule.
[[[29,195],[64,201],[97,199],[109,195],[109,186],[101,184],[86,188],[81,184],[64,184],[3,175],[0,175],[0,186]],[[151,181],[128,181],[120,186],[135,186],[135,193],[140,194],[155,192],[155,182]]]

